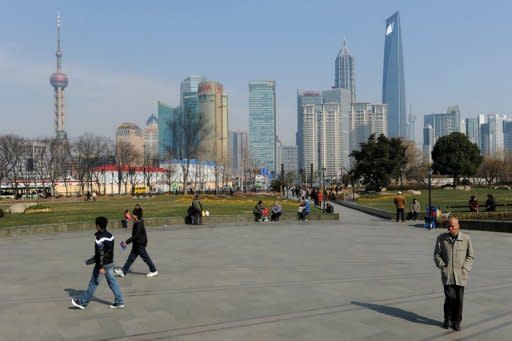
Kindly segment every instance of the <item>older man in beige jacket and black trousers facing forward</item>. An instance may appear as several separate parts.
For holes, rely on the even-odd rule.
[[[434,262],[441,270],[444,286],[444,322],[443,328],[460,330],[464,287],[474,262],[471,238],[462,233],[457,218],[448,218],[448,232],[437,237],[434,248]]]

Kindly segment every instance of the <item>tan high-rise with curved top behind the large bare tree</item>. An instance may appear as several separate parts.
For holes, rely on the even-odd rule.
[[[201,159],[228,162],[228,96],[222,84],[204,81],[198,85],[198,112],[207,122],[211,134],[202,141],[205,154]]]

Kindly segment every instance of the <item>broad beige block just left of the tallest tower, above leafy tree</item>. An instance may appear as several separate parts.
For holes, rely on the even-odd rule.
[[[361,143],[368,142],[371,134],[387,135],[388,108],[385,104],[354,103],[350,117],[351,148],[360,150]]]

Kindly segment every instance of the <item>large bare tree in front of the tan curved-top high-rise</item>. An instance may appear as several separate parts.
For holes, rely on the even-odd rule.
[[[166,146],[170,158],[180,161],[183,175],[183,193],[188,192],[190,161],[205,157],[207,143],[213,136],[213,128],[203,114],[187,112],[167,122],[171,142]]]

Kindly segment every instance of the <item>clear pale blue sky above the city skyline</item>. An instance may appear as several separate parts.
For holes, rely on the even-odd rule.
[[[488,1],[0,0],[0,134],[54,135],[56,12],[62,15],[64,128],[113,138],[141,128],[180,81],[224,85],[230,130],[247,129],[248,82],[275,80],[277,133],[295,144],[297,89],[334,84],[343,40],[357,101],[381,103],[385,20],[400,11],[406,103],[417,116],[510,114],[512,3]]]

